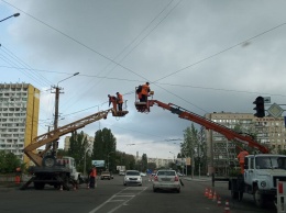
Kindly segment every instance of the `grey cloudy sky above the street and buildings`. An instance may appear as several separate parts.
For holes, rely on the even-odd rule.
[[[121,152],[173,158],[191,122],[158,107],[136,112],[134,88],[150,81],[155,100],[199,115],[254,113],[257,96],[285,104],[285,8],[284,0],[0,0],[0,20],[20,13],[0,22],[1,83],[41,90],[38,134],[53,125],[52,86],[64,91],[59,126],[108,110],[107,94],[119,91],[129,114],[82,131],[108,127]]]

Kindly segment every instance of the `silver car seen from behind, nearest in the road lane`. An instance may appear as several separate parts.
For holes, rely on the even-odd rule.
[[[180,192],[180,181],[175,170],[157,170],[153,180],[153,191],[173,190]]]

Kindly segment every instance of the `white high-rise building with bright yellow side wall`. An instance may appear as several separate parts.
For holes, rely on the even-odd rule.
[[[30,83],[0,83],[0,150],[28,165],[22,149],[37,136],[38,110],[38,89]]]

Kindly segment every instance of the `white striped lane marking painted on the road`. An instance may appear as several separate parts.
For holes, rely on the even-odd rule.
[[[119,191],[118,193],[113,194],[112,197],[110,197],[107,201],[101,203],[96,209],[91,210],[89,213],[96,213],[96,212],[100,211],[102,208],[108,209],[109,208],[108,204],[118,202],[118,205],[116,208],[112,205],[111,210],[106,211],[106,213],[113,213],[116,210],[120,209],[122,205],[128,205],[129,201],[131,201],[136,195],[141,194],[146,189],[147,189],[147,187],[136,188],[136,190],[134,188],[128,187],[128,188]],[[127,192],[127,191],[134,191],[134,193]],[[127,199],[125,200],[118,200],[117,198],[127,198]]]

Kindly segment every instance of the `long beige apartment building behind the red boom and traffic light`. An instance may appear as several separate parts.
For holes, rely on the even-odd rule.
[[[205,117],[232,130],[240,126],[243,133],[254,133],[257,136],[257,142],[270,147],[272,153],[286,149],[284,117],[265,116],[260,119],[251,113],[231,112],[208,113]],[[209,159],[208,172],[211,173],[216,168],[216,172],[227,173],[230,161],[237,160],[235,144],[217,132],[207,130],[205,132]]]

